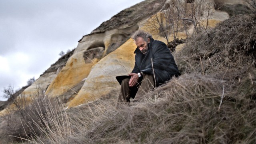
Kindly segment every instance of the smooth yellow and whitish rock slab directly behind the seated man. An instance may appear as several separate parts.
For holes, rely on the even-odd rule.
[[[114,52],[95,64],[78,95],[70,102],[69,107],[90,102],[120,88],[116,76],[129,74],[134,67],[134,50],[132,39],[126,41]]]

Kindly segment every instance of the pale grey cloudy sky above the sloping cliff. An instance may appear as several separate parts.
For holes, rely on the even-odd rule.
[[[143,0],[0,0],[0,100],[121,10]]]

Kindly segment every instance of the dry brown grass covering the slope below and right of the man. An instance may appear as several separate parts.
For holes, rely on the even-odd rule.
[[[45,139],[56,144],[253,144],[255,27],[255,15],[238,16],[190,38],[176,54],[182,76],[148,93],[146,102],[116,109],[116,92],[58,116],[50,108]]]

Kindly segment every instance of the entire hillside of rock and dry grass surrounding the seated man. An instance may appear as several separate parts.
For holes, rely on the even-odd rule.
[[[54,144],[254,143],[254,8],[240,0],[205,2],[210,3],[146,0],[103,22],[5,104],[0,138]],[[184,12],[182,22],[178,10]],[[157,18],[172,19],[173,29],[160,29],[165,23]],[[146,94],[146,102],[116,107],[115,76],[134,67],[130,36],[138,29],[163,42],[183,40],[173,52],[182,75]]]

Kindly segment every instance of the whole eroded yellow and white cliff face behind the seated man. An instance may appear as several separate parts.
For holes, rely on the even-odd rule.
[[[119,89],[115,77],[127,75],[134,67],[133,52],[136,45],[130,39],[131,34],[138,29],[151,32],[145,24],[152,22],[154,14],[159,13],[165,2],[168,0],[146,0],[103,22],[91,34],[83,36],[75,50],[60,58],[23,93],[31,95],[40,88],[46,90],[45,94],[49,97],[61,96],[68,102],[68,107],[74,107]],[[185,5],[186,0],[183,3]],[[230,14],[236,14],[234,7],[240,7],[243,2],[225,0],[222,4],[228,7],[229,11],[225,12],[223,7],[221,10],[213,10],[208,22],[209,27],[229,18]],[[189,9],[191,3],[185,6]],[[206,24],[205,20],[202,20],[202,23]],[[190,24],[186,30],[180,28],[177,36],[185,39],[186,34],[192,34],[194,30],[194,26]],[[166,42],[158,34],[153,34],[153,37]],[[169,41],[172,40],[170,36]],[[182,49],[183,45],[178,45],[176,50]]]

